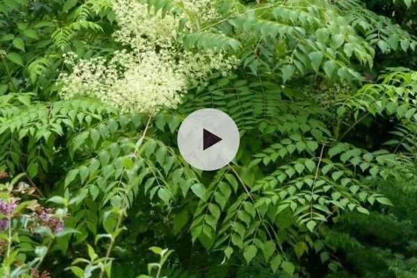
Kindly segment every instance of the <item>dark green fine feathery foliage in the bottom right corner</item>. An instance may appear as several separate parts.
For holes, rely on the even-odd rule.
[[[326,245],[343,250],[345,260],[354,265],[354,274],[358,276],[414,277],[415,190],[414,182],[383,182],[379,192],[389,197],[394,206],[373,212],[371,218],[357,213],[344,215],[332,231],[326,232]],[[373,240],[366,240],[369,237]]]

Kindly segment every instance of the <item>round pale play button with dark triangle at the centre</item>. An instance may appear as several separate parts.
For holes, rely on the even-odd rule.
[[[178,131],[181,156],[193,167],[218,170],[233,160],[239,149],[238,127],[226,113],[212,108],[197,110]]]

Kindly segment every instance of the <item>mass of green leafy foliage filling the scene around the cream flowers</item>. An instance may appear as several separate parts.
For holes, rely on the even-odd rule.
[[[179,21],[172,45],[236,69],[153,115],[62,100],[70,52],[132,51],[112,1],[0,1],[0,201],[19,203],[0,215],[3,277],[416,275],[414,1],[220,0],[210,20],[140,3]],[[177,148],[207,107],[241,135],[215,172]]]

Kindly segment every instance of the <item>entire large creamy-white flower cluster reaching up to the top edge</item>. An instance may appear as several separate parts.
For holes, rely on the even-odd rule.
[[[214,16],[208,0],[186,4]],[[184,51],[177,42],[179,19],[170,14],[148,13],[148,6],[135,0],[117,0],[113,10],[120,27],[113,36],[131,51],[116,51],[111,59],[67,56],[73,71],[60,75],[64,99],[91,95],[122,112],[155,113],[175,108],[190,83],[204,82],[213,72],[226,75],[238,63],[221,51]]]

